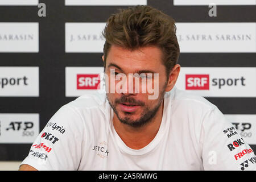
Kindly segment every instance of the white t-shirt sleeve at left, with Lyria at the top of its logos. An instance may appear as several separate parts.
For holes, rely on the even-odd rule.
[[[80,114],[75,107],[64,105],[48,121],[20,165],[28,164],[38,170],[77,170],[83,139]]]

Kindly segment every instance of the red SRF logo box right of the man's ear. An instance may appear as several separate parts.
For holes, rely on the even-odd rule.
[[[209,90],[209,75],[185,75],[186,90]]]

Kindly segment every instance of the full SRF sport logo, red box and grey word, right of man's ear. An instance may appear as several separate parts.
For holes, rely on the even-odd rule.
[[[185,75],[185,89],[186,90],[209,90],[210,89],[210,75]],[[245,78],[212,78],[211,86],[217,86],[221,89],[222,86],[245,86]]]

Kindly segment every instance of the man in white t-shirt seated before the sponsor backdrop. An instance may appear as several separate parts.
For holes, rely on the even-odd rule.
[[[20,170],[254,169],[254,152],[220,110],[175,88],[175,34],[175,21],[150,6],[111,15],[102,56],[106,94],[61,107]]]

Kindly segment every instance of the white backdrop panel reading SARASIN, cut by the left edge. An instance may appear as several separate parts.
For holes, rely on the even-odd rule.
[[[0,52],[39,52],[39,23],[0,23]]]

